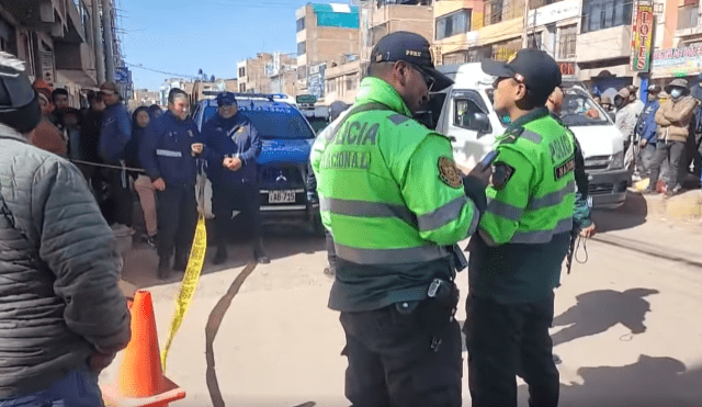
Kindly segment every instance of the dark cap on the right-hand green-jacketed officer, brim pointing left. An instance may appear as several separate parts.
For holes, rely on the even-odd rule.
[[[498,78],[514,78],[544,103],[562,81],[558,64],[540,49],[521,49],[507,63],[484,59],[483,71]]]

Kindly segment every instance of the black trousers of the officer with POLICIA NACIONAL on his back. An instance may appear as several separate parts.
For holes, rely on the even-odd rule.
[[[396,305],[341,313],[346,396],[353,407],[461,406],[461,328],[450,312],[431,306],[435,301],[408,314]]]

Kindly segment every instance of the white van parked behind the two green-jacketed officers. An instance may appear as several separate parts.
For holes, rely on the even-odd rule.
[[[509,125],[500,121],[492,109],[495,78],[483,72],[479,63],[438,69],[455,84],[432,93],[429,121],[435,123],[439,133],[453,140],[456,162],[473,167],[492,149],[495,137]],[[582,148],[591,204],[598,208],[619,207],[626,200],[631,180],[624,168],[624,137],[582,86],[564,81],[563,89],[565,100],[561,117]],[[441,112],[438,117],[435,112]]]

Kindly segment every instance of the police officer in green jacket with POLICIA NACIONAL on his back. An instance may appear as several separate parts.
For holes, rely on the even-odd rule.
[[[338,258],[329,307],[341,312],[356,407],[461,406],[454,248],[478,225],[489,170],[464,178],[451,142],[412,120],[430,90],[452,83],[427,39],[389,34],[353,106],[313,147]]]

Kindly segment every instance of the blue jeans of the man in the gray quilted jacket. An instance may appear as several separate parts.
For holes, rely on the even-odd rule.
[[[103,406],[98,375],[75,370],[45,391],[0,400],[0,407],[97,407]]]

